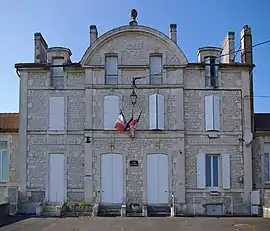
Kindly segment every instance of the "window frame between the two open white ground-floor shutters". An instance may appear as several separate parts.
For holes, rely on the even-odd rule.
[[[211,181],[211,185],[207,185],[207,157],[211,158],[211,174],[210,174],[210,181]],[[217,180],[218,180],[218,184],[217,186],[214,186],[214,161],[213,158],[217,157],[218,158],[218,172],[217,172]],[[220,189],[221,187],[221,157],[220,154],[205,154],[205,188],[206,189],[210,189],[212,191],[217,191]]]

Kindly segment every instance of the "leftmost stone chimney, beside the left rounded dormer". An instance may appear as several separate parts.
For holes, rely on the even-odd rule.
[[[47,63],[48,45],[41,33],[35,33],[35,63]]]

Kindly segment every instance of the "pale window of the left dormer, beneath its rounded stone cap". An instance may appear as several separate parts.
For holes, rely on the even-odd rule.
[[[54,65],[63,65],[64,58],[53,58],[52,59],[52,69],[51,69],[51,86],[62,87],[64,86],[64,68],[63,66],[57,67]]]

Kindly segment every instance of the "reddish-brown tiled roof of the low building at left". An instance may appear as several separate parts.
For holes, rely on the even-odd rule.
[[[0,113],[0,132],[18,132],[19,113]]]

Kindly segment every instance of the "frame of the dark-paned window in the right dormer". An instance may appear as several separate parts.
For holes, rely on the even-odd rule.
[[[209,60],[209,63],[207,62]],[[214,60],[214,63],[211,63],[211,61]],[[206,69],[209,67],[209,75],[207,75]],[[212,75],[212,71],[214,72],[214,75]],[[218,57],[215,56],[205,56],[204,57],[204,76],[205,76],[205,86],[210,88],[217,88],[219,85],[219,78],[218,78],[218,72],[219,72],[219,60]]]

